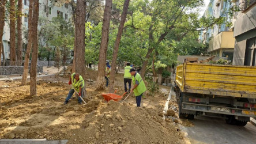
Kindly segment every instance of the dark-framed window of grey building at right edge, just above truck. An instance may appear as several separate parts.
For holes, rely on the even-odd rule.
[[[247,40],[244,65],[256,66],[256,37]]]

